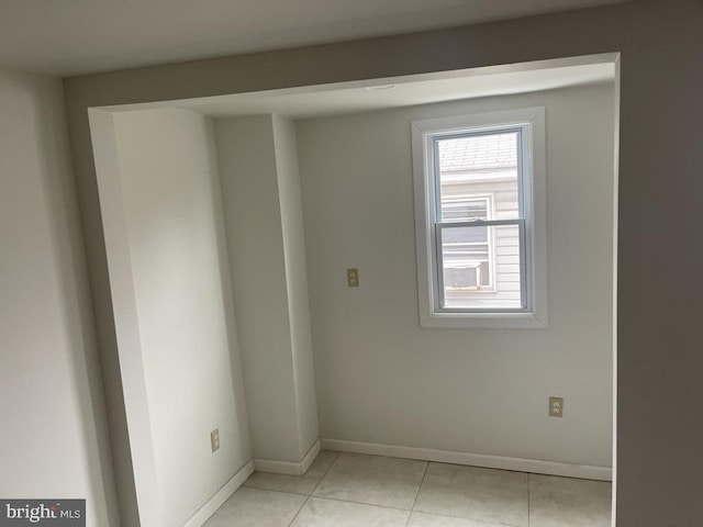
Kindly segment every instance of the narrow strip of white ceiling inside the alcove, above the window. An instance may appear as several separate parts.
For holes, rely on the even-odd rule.
[[[109,111],[178,108],[209,116],[276,113],[310,119],[479,97],[612,82],[615,56],[582,57],[308,86],[178,101],[104,106]]]

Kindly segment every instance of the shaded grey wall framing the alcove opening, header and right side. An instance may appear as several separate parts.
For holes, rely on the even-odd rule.
[[[703,5],[698,0],[639,0],[66,80],[111,419],[119,423],[123,408],[88,106],[622,52],[617,525],[696,525],[703,515],[703,424],[692,405],[703,391],[698,333],[703,237],[695,225],[703,194],[702,30]],[[667,272],[670,262],[649,257],[652,238],[662,253],[677,255],[676,273]],[[119,434],[113,449],[118,459],[129,460]],[[129,493],[125,496],[122,508],[129,512]]]

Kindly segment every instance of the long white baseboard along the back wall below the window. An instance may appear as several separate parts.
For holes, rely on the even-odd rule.
[[[590,464],[571,464],[557,461],[542,461],[538,459],[509,458],[504,456],[488,456],[484,453],[453,452],[432,448],[401,447],[395,445],[379,445],[375,442],[346,441],[343,439],[321,439],[322,448],[339,452],[369,453],[372,456],[388,456],[391,458],[420,459],[439,463],[467,464],[486,467],[489,469],[513,470],[517,472],[533,472],[536,474],[563,475],[584,480],[612,481],[613,470],[610,467]]]

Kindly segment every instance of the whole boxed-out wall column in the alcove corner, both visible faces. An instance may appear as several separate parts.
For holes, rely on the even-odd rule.
[[[255,115],[215,134],[254,456],[300,463],[319,433],[294,130]]]

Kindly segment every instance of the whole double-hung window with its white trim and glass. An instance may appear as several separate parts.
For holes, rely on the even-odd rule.
[[[544,108],[413,123],[423,326],[546,326],[544,150]]]

